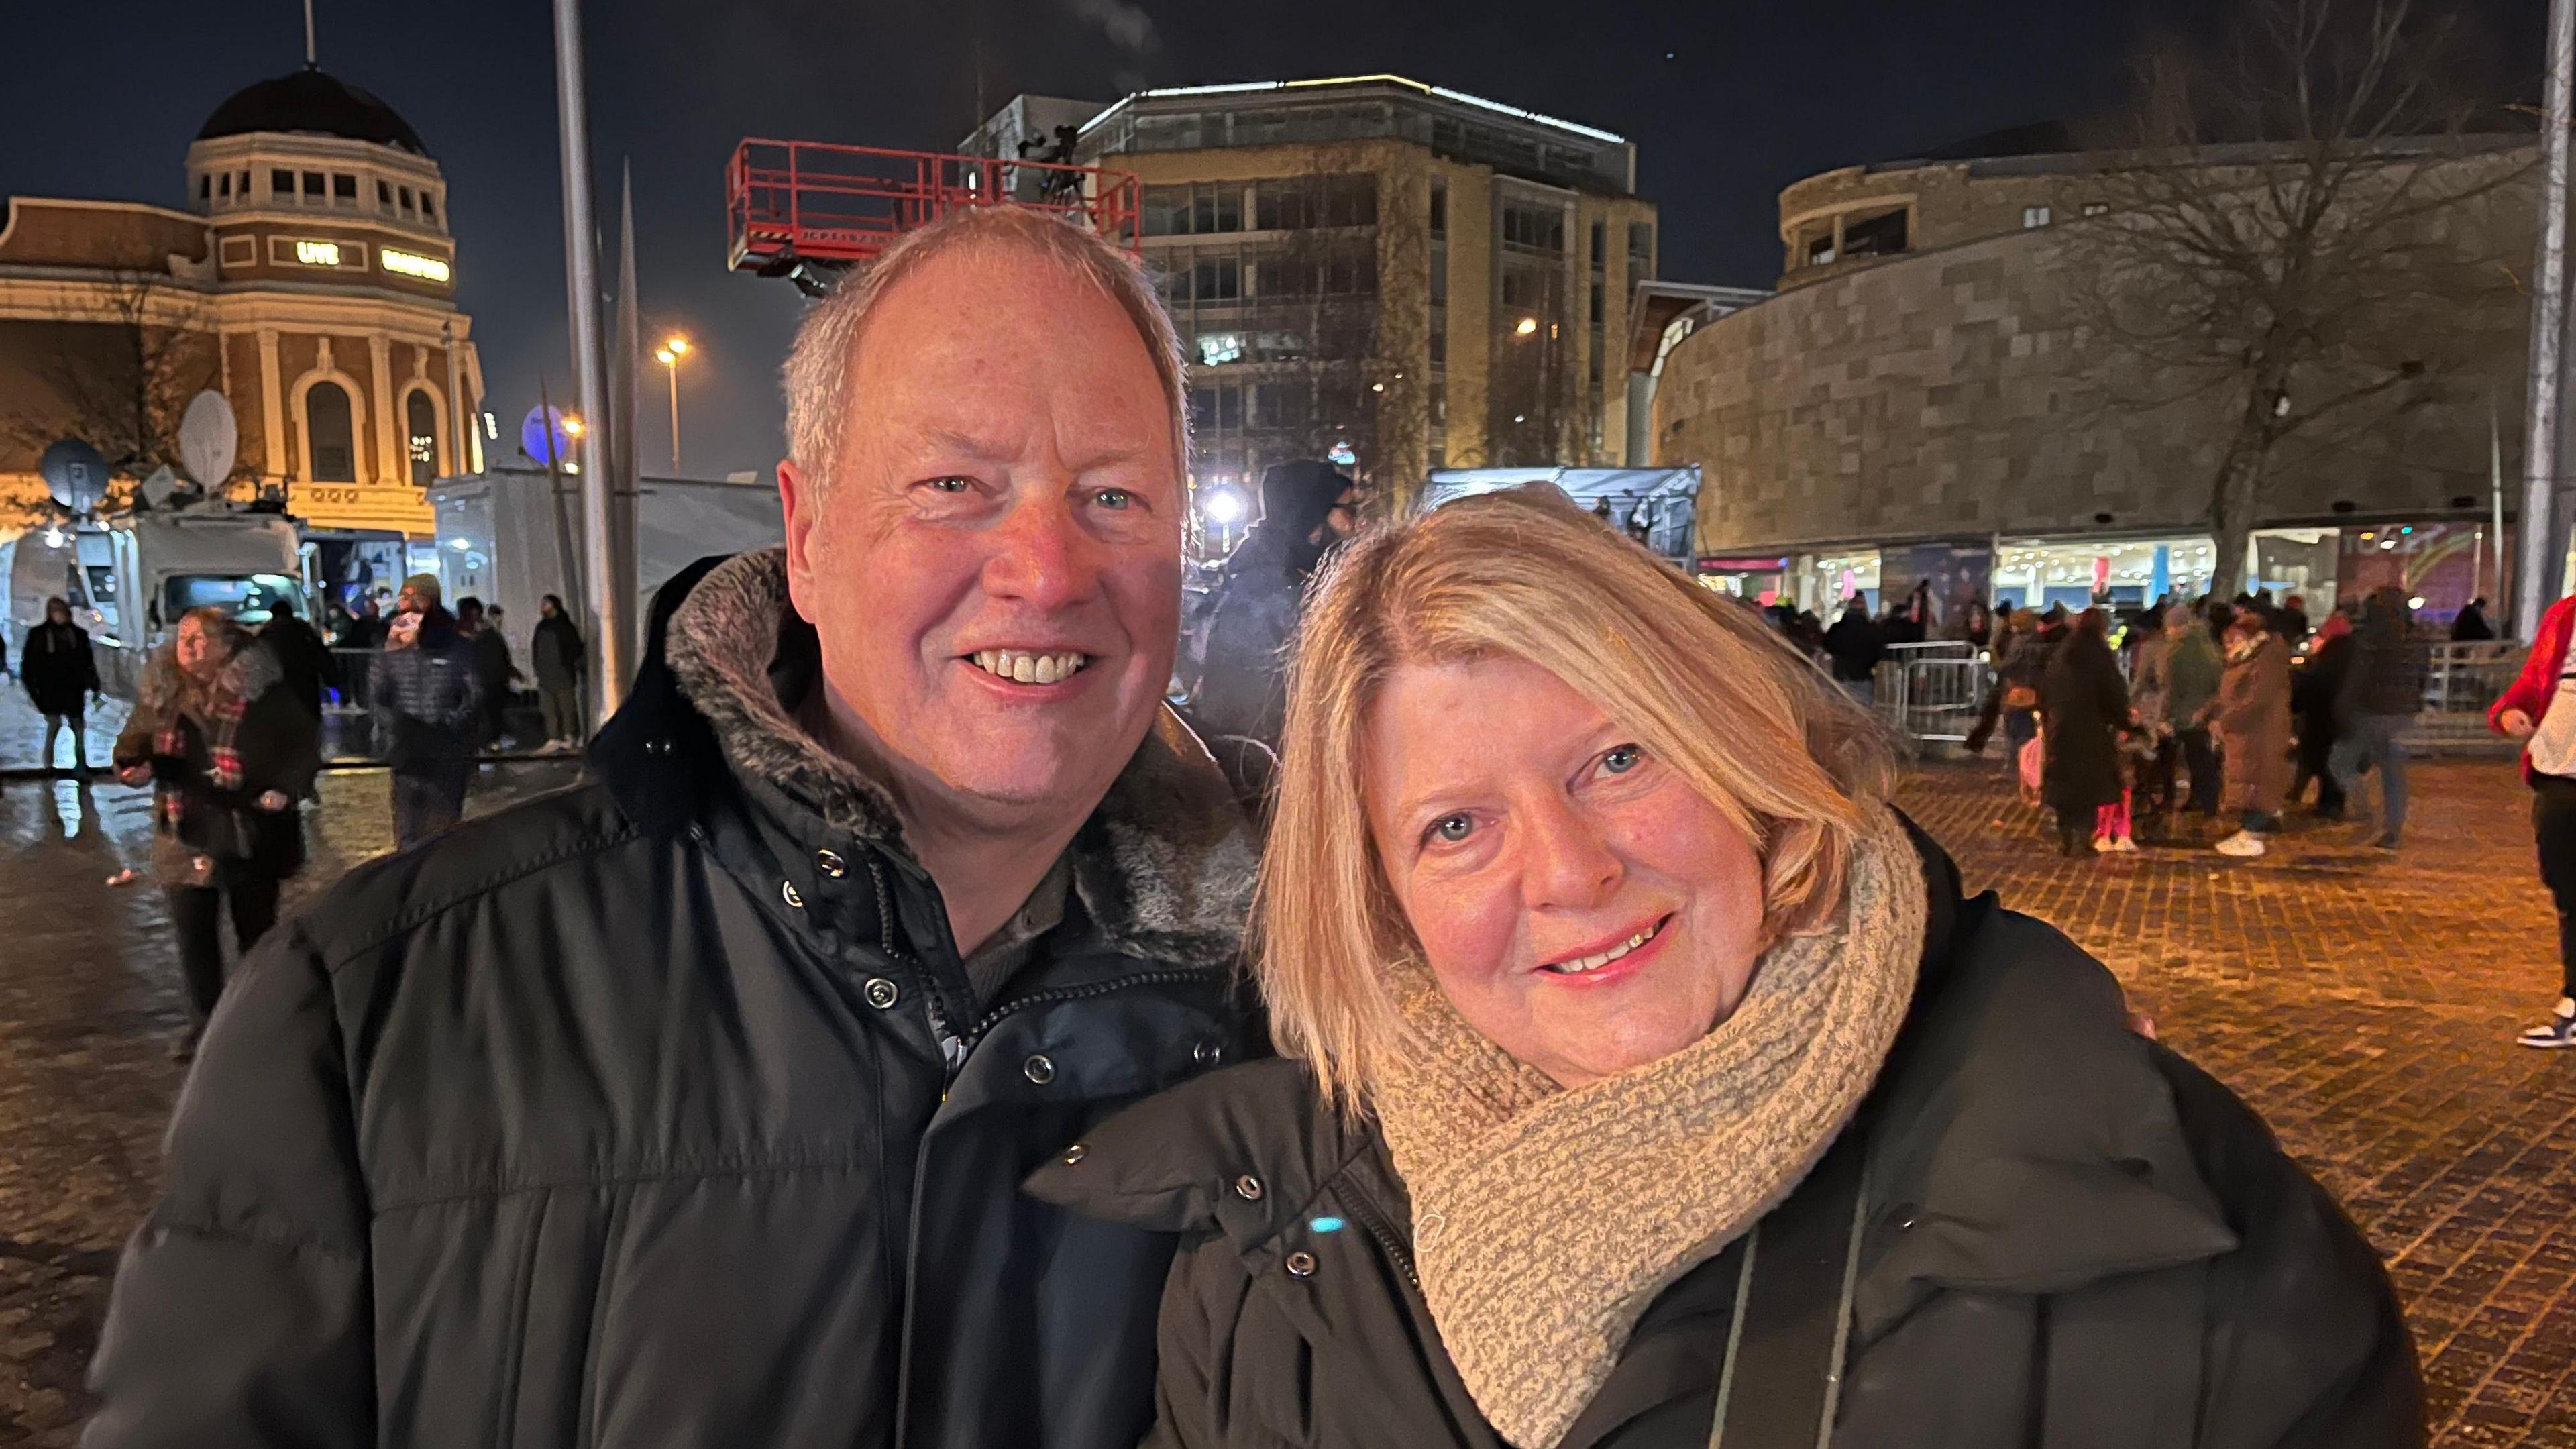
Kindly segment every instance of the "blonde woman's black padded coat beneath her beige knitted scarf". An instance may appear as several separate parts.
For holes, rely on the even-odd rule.
[[[1922,985],[1826,1158],[1862,1134],[1832,1444],[2421,1444],[2414,1343],[2352,1222],[2223,1085],[2125,1029],[2110,972],[1991,895],[1960,900],[1950,861],[1922,846]],[[1244,1178],[1260,1186],[1247,1194]],[[1803,1220],[1808,1189],[1762,1222],[1765,1243],[1819,1227]],[[1190,1235],[1162,1307],[1151,1446],[1499,1449],[1422,1302],[1412,1209],[1381,1137],[1321,1111],[1298,1062],[1141,1104],[1030,1191]],[[1747,1312],[1739,1364],[1765,1372],[1747,1369],[1734,1392],[1777,1392],[1798,1366],[1824,1382],[1829,1348],[1783,1364],[1780,1346],[1832,1343],[1852,1201],[1821,1222],[1826,1287],[1806,1302],[1824,1333]],[[1546,1222],[1530,1225],[1528,1253],[1546,1274]],[[1656,1297],[1556,1449],[1710,1441],[1736,1302],[1728,1258]],[[1728,1446],[1762,1408],[1736,1408]],[[1762,1441],[1806,1446],[1814,1426]]]

